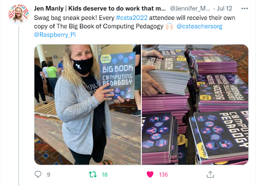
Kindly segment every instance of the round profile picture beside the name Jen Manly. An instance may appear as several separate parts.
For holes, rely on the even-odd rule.
[[[9,9],[9,19],[14,24],[23,24],[27,21],[29,12],[22,4],[15,4]]]

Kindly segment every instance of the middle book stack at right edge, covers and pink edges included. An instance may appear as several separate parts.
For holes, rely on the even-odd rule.
[[[248,85],[200,85],[199,112],[248,108]]]

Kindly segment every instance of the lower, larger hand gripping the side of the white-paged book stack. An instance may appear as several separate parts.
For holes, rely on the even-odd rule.
[[[142,94],[143,95],[156,95],[158,92],[165,94],[164,89],[153,79],[147,71],[154,70],[154,66],[142,65]]]

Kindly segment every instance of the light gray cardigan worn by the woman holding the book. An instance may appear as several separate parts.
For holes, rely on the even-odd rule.
[[[96,79],[98,82],[98,80]],[[99,105],[94,96],[90,96],[84,86],[74,86],[60,77],[54,90],[55,107],[59,119],[63,122],[62,134],[65,144],[72,151],[91,155],[93,148],[92,124],[93,111]],[[112,104],[110,100],[105,102]],[[111,121],[108,104],[105,104],[104,129],[108,138],[111,135]]]

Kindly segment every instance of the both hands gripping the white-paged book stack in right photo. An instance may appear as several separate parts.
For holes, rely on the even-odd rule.
[[[150,51],[141,51],[142,56],[156,56],[159,58],[163,58],[160,52],[156,50]],[[158,92],[165,94],[164,89],[147,73],[149,70],[154,70],[155,66],[151,65],[142,65],[142,94],[143,95],[156,95]]]

